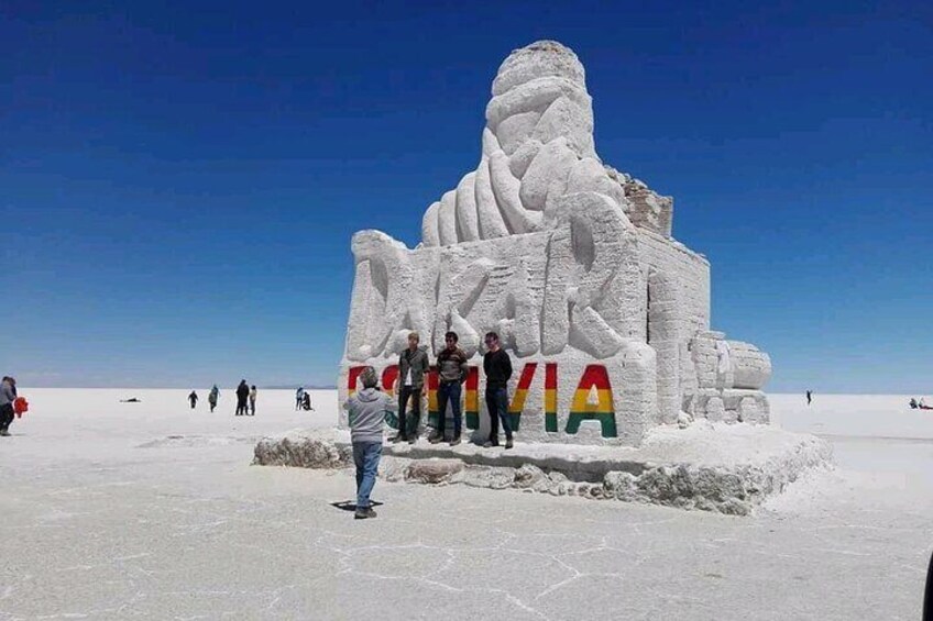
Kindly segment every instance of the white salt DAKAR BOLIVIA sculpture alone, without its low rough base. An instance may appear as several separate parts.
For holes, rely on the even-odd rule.
[[[480,163],[425,211],[422,242],[353,235],[341,401],[365,365],[393,390],[410,331],[433,357],[452,330],[473,365],[465,428],[483,436],[482,335],[495,331],[520,441],[637,446],[684,413],[767,422],[768,355],[710,330],[710,264],[671,237],[673,200],[596,155],[577,55],[517,49],[492,95]],[[436,387],[432,373],[433,418]]]

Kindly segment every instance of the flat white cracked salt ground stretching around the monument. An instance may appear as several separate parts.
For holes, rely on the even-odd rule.
[[[751,518],[249,466],[331,426],[336,395],[255,419],[187,391],[25,390],[0,443],[0,619],[915,620],[933,545],[933,417],[905,397],[775,396],[837,467]],[[143,403],[117,403],[138,396]],[[174,437],[173,437],[174,436]]]

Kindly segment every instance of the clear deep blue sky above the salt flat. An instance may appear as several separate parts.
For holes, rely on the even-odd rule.
[[[0,3],[2,372],[333,384],[350,236],[415,245],[556,38],[770,390],[933,393],[930,2],[420,4]]]

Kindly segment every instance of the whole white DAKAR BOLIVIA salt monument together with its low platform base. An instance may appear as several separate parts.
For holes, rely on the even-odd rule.
[[[433,361],[452,330],[471,365],[464,426],[485,440],[482,336],[495,331],[515,369],[516,445],[387,445],[381,476],[748,513],[831,459],[823,441],[767,424],[770,358],[711,331],[710,263],[671,236],[673,200],[600,159],[573,52],[513,52],[481,144],[476,168],[421,214],[417,247],[353,235],[338,387],[342,403],[373,366],[394,392],[408,334]],[[433,425],[436,393],[432,370]],[[254,463],[345,467],[347,426],[341,411],[339,429],[264,439]]]

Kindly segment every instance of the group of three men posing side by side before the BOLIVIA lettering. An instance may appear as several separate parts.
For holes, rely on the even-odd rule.
[[[457,346],[455,332],[444,334],[444,348],[438,354],[438,425],[428,441],[437,444],[443,441],[447,423],[447,408],[450,404],[453,414],[453,437],[451,446],[460,444],[462,415],[460,396],[466,380],[468,357]],[[418,345],[417,332],[408,335],[408,348],[398,356],[398,435],[393,442],[414,443],[418,439],[418,424],[421,420],[421,392],[425,376],[429,373],[428,354]],[[490,437],[484,446],[498,446],[498,422],[505,431],[505,447],[512,448],[512,424],[508,419],[508,378],[512,377],[512,359],[500,346],[498,334],[490,332],[485,336],[486,354],[483,356],[483,372],[486,375],[486,409],[490,412]],[[408,401],[411,401],[411,414],[407,415]]]

